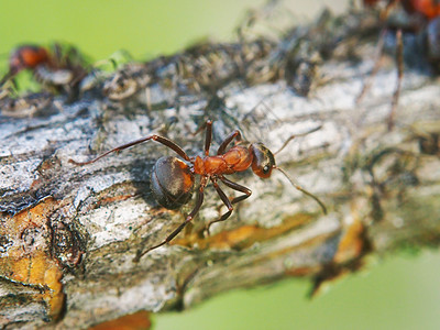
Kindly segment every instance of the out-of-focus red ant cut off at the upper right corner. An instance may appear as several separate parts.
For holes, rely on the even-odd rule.
[[[382,20],[386,20],[389,16],[392,9],[400,4],[402,9],[408,15],[408,26],[387,26],[396,30],[397,40],[397,51],[396,51],[396,62],[397,62],[397,86],[393,96],[392,109],[389,111],[388,118],[388,129],[394,127],[394,117],[397,109],[397,102],[400,94],[400,85],[404,75],[404,45],[402,31],[407,30],[413,33],[419,33],[420,31],[426,31],[425,45],[426,52],[428,54],[428,59],[431,62],[437,62],[440,58],[440,45],[439,45],[439,16],[440,16],[440,2],[438,0],[363,0],[364,6],[374,7],[378,3],[385,3],[385,8],[381,12]],[[384,28],[383,33],[381,33],[381,40],[377,43],[378,55],[382,53],[384,32],[387,28]],[[375,67],[373,68],[372,76],[378,69],[378,57],[376,59]],[[367,89],[364,85],[360,96],[358,97],[358,102],[363,97],[365,90]]]

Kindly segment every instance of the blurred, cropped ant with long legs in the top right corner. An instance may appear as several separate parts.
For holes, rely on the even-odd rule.
[[[397,109],[398,98],[400,95],[402,80],[404,75],[404,41],[403,33],[420,35],[421,50],[417,52],[422,54],[425,62],[438,64],[440,59],[440,1],[438,0],[363,0],[365,7],[383,6],[381,10],[381,19],[385,22],[385,26],[377,42],[377,58],[374,64],[371,76],[374,76],[378,69],[380,57],[384,47],[384,38],[387,31],[396,32],[396,63],[397,63],[397,85],[393,95],[392,108],[388,117],[388,130],[394,127],[395,113]],[[399,12],[400,11],[400,12]],[[405,21],[391,20],[394,13],[404,13]],[[417,56],[417,54],[416,54]],[[364,84],[358,102],[364,96],[369,84]]]

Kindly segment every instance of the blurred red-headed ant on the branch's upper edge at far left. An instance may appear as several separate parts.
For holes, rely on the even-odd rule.
[[[80,80],[87,76],[84,59],[75,47],[53,46],[53,52],[38,45],[22,45],[9,57],[9,72],[0,80],[0,87],[11,81],[16,88],[15,76],[31,70],[40,84],[56,92],[67,92],[73,99],[78,94]]]

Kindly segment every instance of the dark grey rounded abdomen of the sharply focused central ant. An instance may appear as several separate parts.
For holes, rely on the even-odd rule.
[[[193,195],[195,176],[189,166],[173,156],[161,157],[153,166],[151,189],[157,202],[174,210],[187,204]]]

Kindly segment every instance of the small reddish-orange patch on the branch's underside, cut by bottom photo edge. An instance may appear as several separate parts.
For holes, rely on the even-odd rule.
[[[89,330],[147,330],[151,328],[150,312],[145,310],[125,315],[118,319],[99,323]]]

